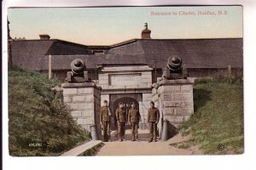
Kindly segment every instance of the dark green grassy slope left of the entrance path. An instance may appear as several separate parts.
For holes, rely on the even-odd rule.
[[[66,111],[62,93],[51,90],[60,83],[42,73],[9,68],[10,156],[59,156],[89,139]]]

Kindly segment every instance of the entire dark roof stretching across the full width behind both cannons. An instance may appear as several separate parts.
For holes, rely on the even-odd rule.
[[[12,42],[13,63],[32,70],[69,70],[73,59],[84,59],[87,68],[95,65],[148,64],[166,67],[172,55],[183,59],[187,68],[243,67],[242,38],[216,39],[132,39],[111,46],[84,46],[60,40]],[[94,55],[90,50],[107,50]]]

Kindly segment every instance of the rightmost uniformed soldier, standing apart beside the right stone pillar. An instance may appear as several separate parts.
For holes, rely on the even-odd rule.
[[[149,140],[148,142],[156,142],[157,135],[157,123],[160,119],[160,112],[157,108],[154,107],[154,102],[150,102],[151,108],[148,109],[148,127],[149,127]]]

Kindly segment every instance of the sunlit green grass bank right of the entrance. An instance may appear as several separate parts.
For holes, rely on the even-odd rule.
[[[194,87],[195,113],[179,129],[192,134],[205,154],[242,154],[243,85],[240,79],[201,79]],[[223,144],[224,150],[218,145]]]

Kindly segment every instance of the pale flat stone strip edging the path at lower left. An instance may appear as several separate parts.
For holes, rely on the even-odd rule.
[[[90,150],[97,144],[101,144],[102,140],[90,140],[89,142],[86,142],[85,144],[81,144],[72,150],[68,150],[61,156],[82,156],[86,150]]]

